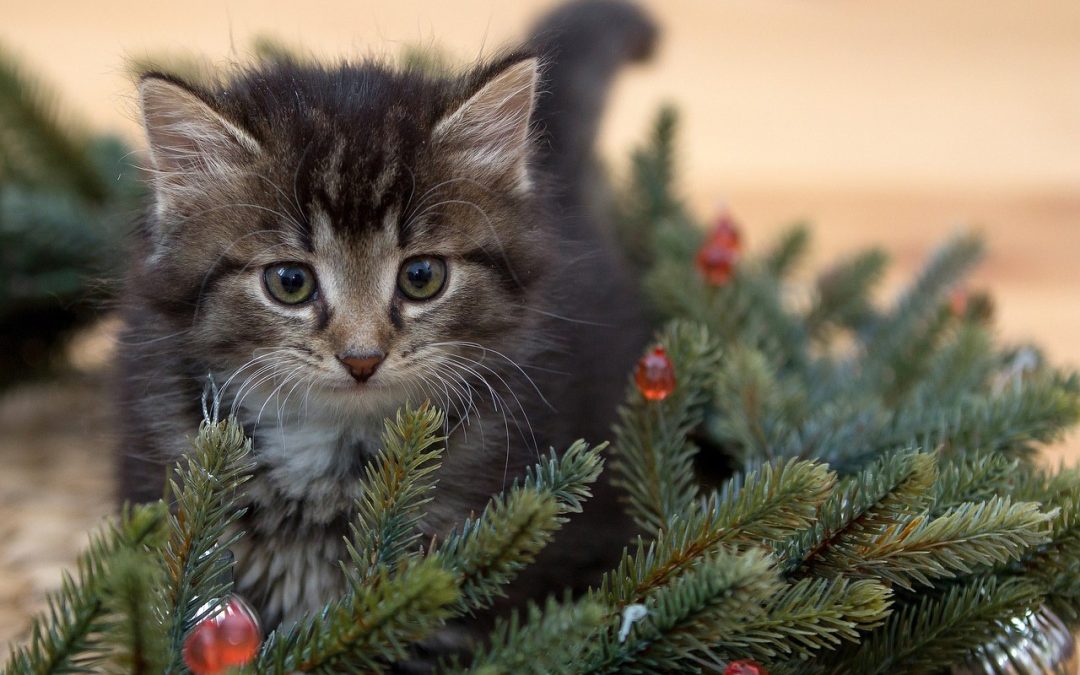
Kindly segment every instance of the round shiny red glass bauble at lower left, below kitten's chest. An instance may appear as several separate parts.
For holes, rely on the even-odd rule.
[[[239,596],[202,621],[184,640],[184,662],[194,675],[216,675],[255,658],[262,642],[255,612]]]

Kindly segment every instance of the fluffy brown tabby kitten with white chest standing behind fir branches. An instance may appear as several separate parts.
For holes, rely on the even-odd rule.
[[[342,588],[356,482],[406,401],[447,413],[445,534],[549,446],[606,438],[645,322],[597,206],[593,136],[654,28],[551,14],[460,77],[281,60],[139,82],[153,200],[125,293],[124,499],[160,496],[207,381],[254,438],[238,591],[268,625]],[[630,528],[600,485],[514,596],[594,581]]]

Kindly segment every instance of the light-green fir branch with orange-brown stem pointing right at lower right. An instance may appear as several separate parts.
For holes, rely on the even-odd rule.
[[[818,557],[814,572],[881,579],[913,590],[1020,559],[1050,541],[1052,515],[1009,497],[954,507],[936,518],[916,515],[856,535]]]

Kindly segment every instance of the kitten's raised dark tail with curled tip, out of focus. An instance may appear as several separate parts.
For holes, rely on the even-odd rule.
[[[535,120],[540,161],[565,188],[589,183],[593,143],[608,89],[620,66],[647,59],[659,30],[625,0],[572,0],[544,16],[529,49],[545,73]]]

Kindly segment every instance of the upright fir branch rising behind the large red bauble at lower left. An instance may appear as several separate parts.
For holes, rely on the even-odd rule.
[[[251,451],[251,441],[235,420],[203,422],[192,451],[170,480],[176,505],[162,550],[166,570],[162,621],[171,626],[173,654],[166,673],[184,667],[180,652],[185,635],[216,609],[207,600],[221,598],[230,590],[228,549],[241,534],[229,530],[245,511],[237,500],[254,468]]]

